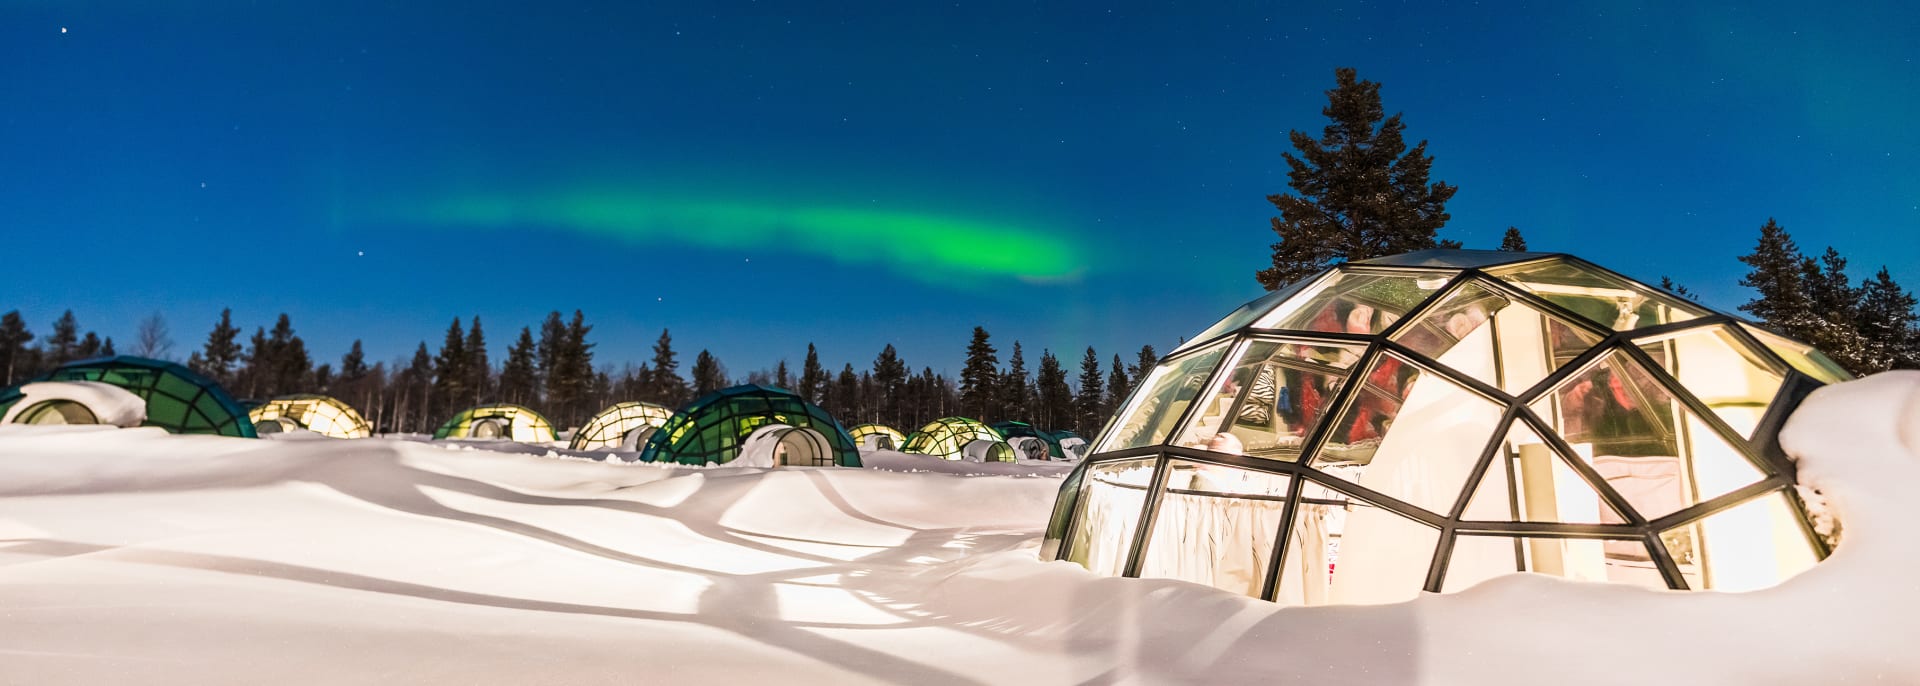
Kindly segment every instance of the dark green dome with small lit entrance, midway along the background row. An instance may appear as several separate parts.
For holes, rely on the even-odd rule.
[[[762,430],[766,429],[766,430]],[[860,467],[833,415],[785,388],[733,386],[695,400],[653,432],[641,461]]]

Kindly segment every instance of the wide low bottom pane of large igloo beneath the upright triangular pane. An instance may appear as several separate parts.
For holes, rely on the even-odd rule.
[[[1647,544],[1640,540],[1473,534],[1453,538],[1440,592],[1452,594],[1515,571],[1667,588],[1653,555],[1647,555]]]

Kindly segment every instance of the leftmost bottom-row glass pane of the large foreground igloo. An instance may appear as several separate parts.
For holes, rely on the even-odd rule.
[[[1133,532],[1140,528],[1140,507],[1154,482],[1154,457],[1098,463],[1087,469],[1081,486],[1079,523],[1068,559],[1094,575],[1119,576],[1133,551]]]

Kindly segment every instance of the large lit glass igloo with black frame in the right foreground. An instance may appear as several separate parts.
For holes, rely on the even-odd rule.
[[[1162,359],[1068,477],[1043,555],[1286,605],[1517,571],[1764,588],[1828,553],[1776,432],[1843,379],[1571,256],[1346,263]]]

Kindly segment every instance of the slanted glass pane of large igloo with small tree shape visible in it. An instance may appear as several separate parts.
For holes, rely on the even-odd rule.
[[[1221,375],[1177,446],[1269,459],[1300,459],[1300,444],[1327,415],[1327,404],[1363,346],[1261,338],[1244,346]]]

